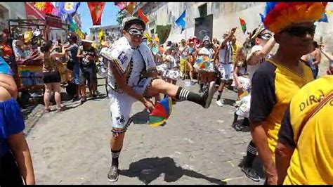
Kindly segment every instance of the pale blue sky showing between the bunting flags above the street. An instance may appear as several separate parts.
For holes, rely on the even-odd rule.
[[[78,11],[81,13],[82,31],[90,34],[89,28],[93,27],[93,21],[91,20],[91,14],[86,2],[81,2]],[[118,25],[118,11],[119,8],[113,2],[106,2],[102,13],[101,26]]]

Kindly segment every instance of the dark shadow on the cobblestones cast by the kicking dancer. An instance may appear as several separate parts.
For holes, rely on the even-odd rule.
[[[182,176],[190,176],[196,179],[204,179],[211,183],[225,185],[226,182],[220,179],[211,178],[203,174],[183,169],[176,166],[176,162],[171,157],[150,157],[129,165],[129,169],[119,170],[119,174],[128,177],[138,177],[146,185],[159,178],[163,174],[167,183],[178,181]]]

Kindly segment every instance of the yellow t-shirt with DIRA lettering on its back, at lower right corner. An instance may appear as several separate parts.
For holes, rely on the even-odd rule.
[[[332,75],[321,77],[292,98],[279,133],[279,142],[294,148],[284,184],[333,184],[333,99],[300,131],[306,115],[333,93],[332,83]]]

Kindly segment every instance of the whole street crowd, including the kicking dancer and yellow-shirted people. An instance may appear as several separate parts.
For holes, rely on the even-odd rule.
[[[107,72],[112,113],[109,181],[119,177],[119,155],[131,124],[134,102],[141,101],[152,112],[155,105],[150,98],[159,101],[162,93],[174,101],[190,101],[209,108],[217,91],[216,105],[223,107],[222,93],[228,86],[237,91],[233,127],[251,129],[252,141],[242,165],[250,179],[260,180],[252,167],[259,153],[266,184],[332,184],[332,120],[326,118],[332,112],[333,56],[321,41],[313,41],[314,21],[324,13],[327,3],[300,4],[315,11],[295,9],[299,4],[280,4],[286,10],[301,12],[292,18],[290,14],[269,15],[277,10],[276,4],[268,3],[269,19],[263,18],[263,25],[247,33],[241,46],[235,37],[237,27],[227,30],[220,40],[191,37],[187,41],[167,41],[163,46],[158,38],[144,37],[145,22],[136,17],[124,18],[123,37],[114,44],[103,43],[100,49],[93,47],[93,41],[79,41],[75,34],[70,35],[68,44],[60,44],[45,41],[35,30],[31,35],[34,37],[18,33],[8,43],[8,32],[1,32],[1,183],[34,184],[30,151],[22,134],[24,120],[15,101],[18,80],[13,77],[18,73],[17,66],[28,61],[41,62],[45,112],[50,112],[51,91],[57,111],[61,112],[63,63],[67,63],[64,68],[72,72],[76,85],[73,100],[84,103],[86,86],[92,98],[99,94],[96,63],[100,60]],[[282,20],[281,16],[285,16],[284,22],[273,21]],[[278,49],[273,53],[275,44]],[[329,60],[328,76],[318,78],[321,54]],[[179,79],[187,82],[187,77],[188,85],[198,85],[198,93],[177,85]],[[242,124],[238,124],[239,116],[244,117]]]

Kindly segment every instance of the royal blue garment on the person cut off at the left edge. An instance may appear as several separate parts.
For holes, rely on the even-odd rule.
[[[0,102],[0,156],[9,152],[6,139],[25,129],[25,121],[14,98]]]

